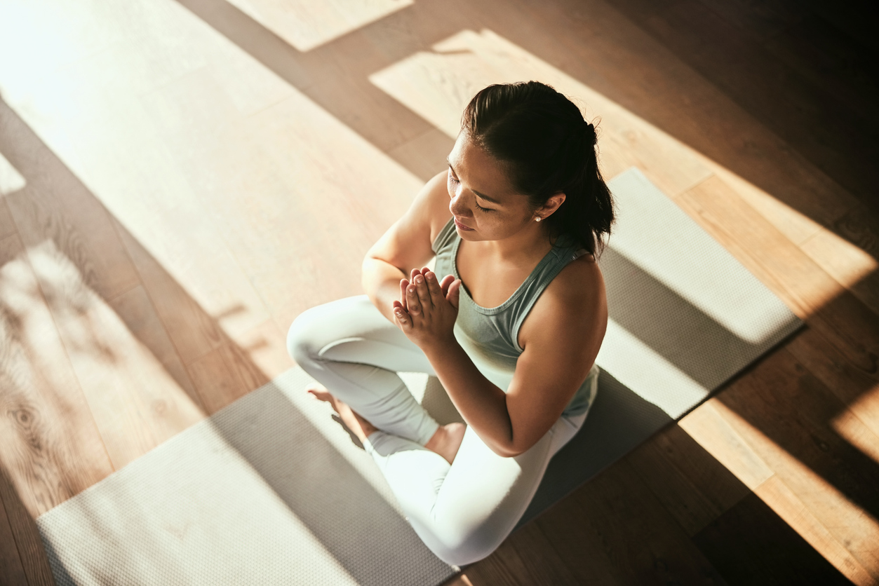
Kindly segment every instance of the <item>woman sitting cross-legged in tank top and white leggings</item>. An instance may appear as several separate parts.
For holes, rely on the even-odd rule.
[[[360,437],[447,563],[480,560],[512,532],[592,405],[607,327],[594,255],[614,220],[595,147],[592,124],[549,86],[481,90],[447,172],[367,253],[367,294],[290,328],[290,354],[325,385],[309,392]],[[397,372],[439,377],[467,425],[436,423]]]

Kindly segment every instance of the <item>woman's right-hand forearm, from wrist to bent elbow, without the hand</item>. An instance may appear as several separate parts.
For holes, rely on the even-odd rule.
[[[424,350],[455,408],[485,445],[505,457],[519,453],[506,394],[479,372],[461,344],[453,338]]]

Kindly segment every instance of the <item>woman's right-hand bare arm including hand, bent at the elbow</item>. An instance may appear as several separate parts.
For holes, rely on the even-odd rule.
[[[427,277],[408,292],[416,310],[399,314],[397,322],[425,351],[454,406],[492,451],[505,457],[527,451],[562,415],[598,355],[607,328],[598,267],[576,261],[541,295],[519,331],[524,351],[506,394],[476,369],[454,337],[449,324],[456,316],[455,286],[442,296],[435,276]]]

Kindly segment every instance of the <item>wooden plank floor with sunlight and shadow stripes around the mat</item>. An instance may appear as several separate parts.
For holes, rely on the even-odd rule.
[[[467,98],[525,78],[808,328],[450,583],[879,582],[868,4],[360,4],[0,4],[0,582],[53,583],[35,517],[292,365]]]

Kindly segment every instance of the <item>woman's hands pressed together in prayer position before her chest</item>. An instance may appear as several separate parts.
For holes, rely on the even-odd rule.
[[[412,269],[410,279],[400,280],[400,300],[394,301],[396,326],[422,350],[454,341],[460,293],[461,279],[447,275],[439,282],[426,267]]]

